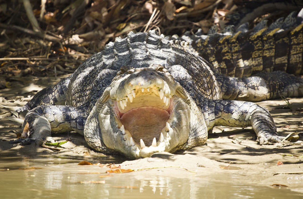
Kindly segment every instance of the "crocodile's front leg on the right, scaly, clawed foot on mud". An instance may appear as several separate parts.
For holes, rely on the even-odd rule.
[[[214,126],[252,126],[260,144],[281,142],[284,138],[277,134],[270,113],[253,102],[205,99],[203,110],[208,130]]]

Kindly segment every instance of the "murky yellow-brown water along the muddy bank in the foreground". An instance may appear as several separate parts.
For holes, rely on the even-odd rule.
[[[175,168],[175,172],[169,171],[169,175],[165,168],[154,168],[156,174],[142,175],[144,171],[106,174],[109,168],[80,166],[80,161],[72,157],[2,155],[0,198],[303,197],[303,194],[287,187],[239,183],[237,178],[241,176],[233,174],[207,175],[181,171],[179,168]],[[103,163],[106,162],[103,160]]]

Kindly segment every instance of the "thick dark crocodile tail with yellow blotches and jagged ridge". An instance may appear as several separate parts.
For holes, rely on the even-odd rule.
[[[212,28],[208,35],[198,31],[192,40],[199,55],[209,61],[217,72],[228,76],[248,77],[260,71],[287,71],[300,75],[303,52],[303,9],[279,18],[267,26],[258,23],[251,31],[248,23],[227,26],[221,33]]]

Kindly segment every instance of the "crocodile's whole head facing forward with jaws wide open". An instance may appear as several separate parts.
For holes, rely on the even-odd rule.
[[[86,122],[98,123],[102,148],[86,141],[98,151],[118,151],[131,158],[173,152],[186,148],[189,142],[192,147],[194,142],[200,145],[206,141],[190,138],[198,129],[192,127],[201,125],[193,118],[199,117],[203,119],[201,111],[165,68],[130,69],[113,79]]]

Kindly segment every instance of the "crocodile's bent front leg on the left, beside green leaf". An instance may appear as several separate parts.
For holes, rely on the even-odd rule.
[[[41,145],[51,132],[76,131],[83,135],[86,112],[72,106],[42,105],[29,111],[22,124],[21,139],[13,143]]]

